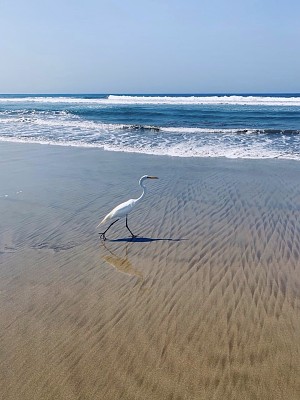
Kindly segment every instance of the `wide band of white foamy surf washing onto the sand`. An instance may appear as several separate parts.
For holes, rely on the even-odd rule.
[[[177,157],[300,160],[300,152],[297,151],[297,148],[300,148],[300,135],[280,135],[275,132],[271,139],[270,135],[263,133],[263,129],[246,128],[106,124],[88,121],[66,112],[11,112],[0,115],[0,141],[90,147]]]

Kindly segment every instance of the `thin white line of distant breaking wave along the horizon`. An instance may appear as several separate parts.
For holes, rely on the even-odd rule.
[[[47,104],[92,104],[92,105],[266,105],[300,107],[300,97],[284,96],[126,96],[109,95],[107,98],[80,97],[0,97],[1,103],[47,103]]]

